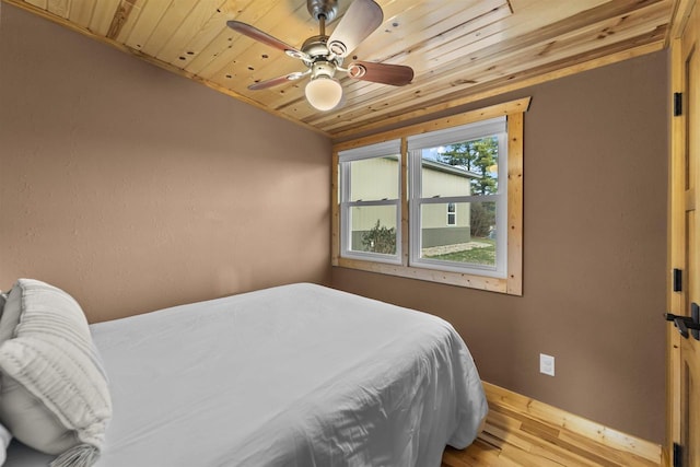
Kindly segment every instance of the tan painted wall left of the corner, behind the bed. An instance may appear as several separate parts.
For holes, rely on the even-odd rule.
[[[92,322],[329,278],[330,142],[13,7],[0,23],[0,289]]]

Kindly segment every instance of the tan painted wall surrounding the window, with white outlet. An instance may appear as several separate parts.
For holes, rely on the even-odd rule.
[[[522,297],[341,268],[332,283],[447,318],[490,383],[661,442],[666,54],[482,104],[527,95]]]

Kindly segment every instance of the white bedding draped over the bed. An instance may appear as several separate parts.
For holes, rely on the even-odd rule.
[[[440,466],[487,404],[453,327],[313,284],[91,326],[114,419],[97,467]],[[18,444],[8,467],[51,457]]]

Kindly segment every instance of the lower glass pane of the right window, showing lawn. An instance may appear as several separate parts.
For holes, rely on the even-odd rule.
[[[454,225],[446,210],[421,206],[421,258],[495,267],[495,201],[456,202]]]

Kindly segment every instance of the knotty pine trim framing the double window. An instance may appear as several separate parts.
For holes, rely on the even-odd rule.
[[[332,147],[331,171],[331,254],[334,267],[358,269],[404,278],[451,285],[467,287],[510,295],[523,294],[523,120],[532,97],[497,104],[477,110],[466,112],[450,117],[439,118],[422,124],[372,135],[369,137],[343,141]],[[508,117],[508,272],[506,277],[491,278],[486,276],[451,272],[409,266],[409,227],[408,227],[408,143],[407,138],[429,131],[456,127],[505,115]],[[401,140],[401,264],[390,265],[340,256],[340,203],[338,196],[338,154],[340,151],[361,148],[394,139]]]

